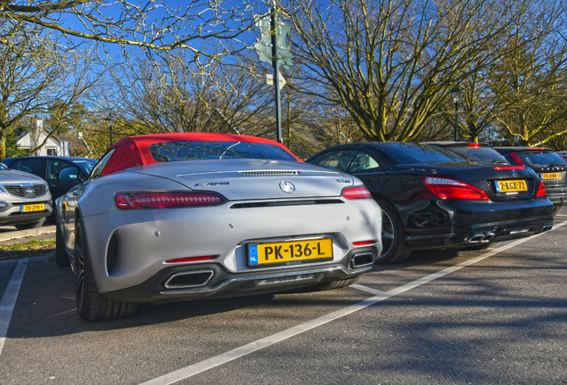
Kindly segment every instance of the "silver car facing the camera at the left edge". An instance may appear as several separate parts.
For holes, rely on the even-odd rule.
[[[44,180],[0,165],[0,225],[14,225],[18,230],[36,228],[52,210]]]

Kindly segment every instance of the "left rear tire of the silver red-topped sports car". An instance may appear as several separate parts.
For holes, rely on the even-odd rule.
[[[80,219],[75,227],[75,299],[78,315],[85,321],[122,318],[136,312],[136,304],[107,299],[96,289],[86,236]]]

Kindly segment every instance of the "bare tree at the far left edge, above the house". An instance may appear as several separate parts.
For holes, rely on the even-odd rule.
[[[77,102],[96,78],[88,68],[87,49],[69,47],[41,29],[22,25],[13,25],[10,34],[15,40],[0,45],[0,159],[14,124],[45,113],[56,102]],[[56,132],[55,128],[50,135]],[[43,145],[38,143],[32,152]]]

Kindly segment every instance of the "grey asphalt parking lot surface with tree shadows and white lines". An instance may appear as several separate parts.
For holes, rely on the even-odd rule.
[[[99,323],[76,314],[69,269],[3,261],[0,383],[567,383],[566,239],[560,214],[549,233],[416,252],[341,290]]]

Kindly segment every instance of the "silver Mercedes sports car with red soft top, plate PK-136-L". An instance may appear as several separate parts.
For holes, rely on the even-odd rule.
[[[57,262],[89,321],[144,302],[339,288],[382,250],[382,210],[356,177],[244,135],[124,138],[56,216]]]

